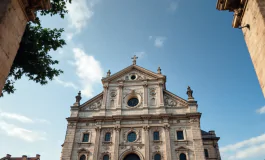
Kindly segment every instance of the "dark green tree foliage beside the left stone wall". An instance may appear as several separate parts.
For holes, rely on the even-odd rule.
[[[44,85],[63,73],[62,70],[54,68],[53,65],[58,64],[59,61],[53,60],[49,52],[56,51],[66,44],[61,38],[64,29],[43,28],[39,16],[59,15],[64,18],[67,14],[66,3],[68,2],[71,3],[71,0],[52,0],[50,10],[39,11],[36,13],[36,20],[27,23],[2,95],[14,93],[14,83],[22,76]]]

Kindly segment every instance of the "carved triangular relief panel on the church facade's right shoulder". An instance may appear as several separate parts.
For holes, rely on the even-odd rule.
[[[164,104],[165,104],[165,107],[188,107],[188,102],[167,91],[167,90],[164,90]]]

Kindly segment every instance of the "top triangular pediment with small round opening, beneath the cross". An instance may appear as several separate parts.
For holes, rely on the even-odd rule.
[[[135,79],[132,76],[135,75]],[[130,65],[123,70],[102,79],[102,82],[131,81],[131,80],[152,80],[166,79],[166,76],[154,73],[137,65]]]

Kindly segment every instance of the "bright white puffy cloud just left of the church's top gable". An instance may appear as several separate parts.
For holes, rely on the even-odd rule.
[[[76,66],[76,74],[80,79],[83,86],[82,95],[92,97],[93,86],[97,83],[100,84],[103,77],[103,69],[100,62],[93,56],[87,55],[82,49],[74,48],[74,58]]]

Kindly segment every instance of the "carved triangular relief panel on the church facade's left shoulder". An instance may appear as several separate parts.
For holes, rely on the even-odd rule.
[[[99,110],[102,105],[103,92],[86,101],[80,106],[80,110]]]

